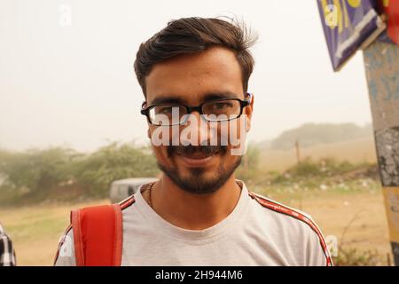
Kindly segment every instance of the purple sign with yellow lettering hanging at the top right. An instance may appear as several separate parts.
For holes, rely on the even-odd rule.
[[[317,0],[317,5],[334,71],[386,28],[375,1]]]

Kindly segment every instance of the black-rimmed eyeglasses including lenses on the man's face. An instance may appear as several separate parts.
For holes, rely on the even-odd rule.
[[[249,106],[251,93],[246,93],[247,99],[214,99],[203,102],[200,106],[183,106],[178,104],[155,104],[145,106],[143,103],[141,114],[148,122],[157,126],[184,125],[193,111],[201,114],[207,122],[227,122],[239,118],[245,106]]]

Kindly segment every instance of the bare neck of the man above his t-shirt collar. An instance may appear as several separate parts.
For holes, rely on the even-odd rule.
[[[215,193],[188,193],[162,175],[153,185],[153,210],[169,223],[203,230],[221,222],[236,207],[241,189],[232,175]]]

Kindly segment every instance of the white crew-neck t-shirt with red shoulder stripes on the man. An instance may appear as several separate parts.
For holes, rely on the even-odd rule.
[[[122,210],[121,265],[327,265],[325,241],[309,215],[242,186],[228,217],[204,230],[168,223],[145,201],[141,187]],[[56,265],[74,265],[73,229]]]

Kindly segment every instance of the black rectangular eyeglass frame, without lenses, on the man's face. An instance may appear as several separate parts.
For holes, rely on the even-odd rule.
[[[203,103],[200,104],[200,106],[184,106],[184,105],[179,105],[179,104],[170,104],[170,105],[168,105],[168,106],[183,106],[183,107],[185,107],[185,109],[187,110],[187,113],[186,113],[186,114],[192,114],[193,111],[197,111],[199,114],[203,115],[203,117],[207,120],[207,118],[206,118],[206,116],[205,116],[205,115],[207,115],[207,114],[204,114],[204,113],[202,112],[202,106],[204,106],[204,105],[206,105],[206,104],[208,104],[208,103],[213,103],[213,102],[218,102],[218,101],[223,101],[223,100],[231,100],[231,99],[234,99],[234,100],[239,101],[240,110],[239,110],[239,115],[238,115],[238,116],[233,117],[233,118],[231,118],[231,119],[224,120],[224,121],[212,121],[212,120],[209,121],[209,120],[207,120],[207,122],[227,122],[227,121],[232,121],[232,120],[238,119],[239,116],[241,116],[244,107],[249,106],[249,105],[251,104],[252,93],[247,92],[247,93],[246,93],[246,96],[248,96],[248,99],[239,99],[239,98],[213,99],[213,100],[209,100],[209,101],[204,101]],[[142,104],[142,106],[141,106],[142,109],[140,110],[140,114],[145,115],[145,117],[147,118],[147,122],[149,122],[150,124],[153,124],[153,125],[156,125],[156,126],[162,126],[162,124],[156,124],[156,123],[153,123],[153,122],[151,121],[151,119],[150,119],[150,117],[149,117],[149,111],[150,111],[150,109],[153,108],[154,106],[166,106],[167,104],[155,104],[155,105],[147,106],[147,107],[143,108],[143,106],[145,105],[145,103],[146,103],[146,101],[144,101],[143,104]],[[178,122],[178,123],[176,123],[176,124],[170,124],[170,125],[165,125],[165,126],[183,125],[183,124],[184,124],[184,122]]]

